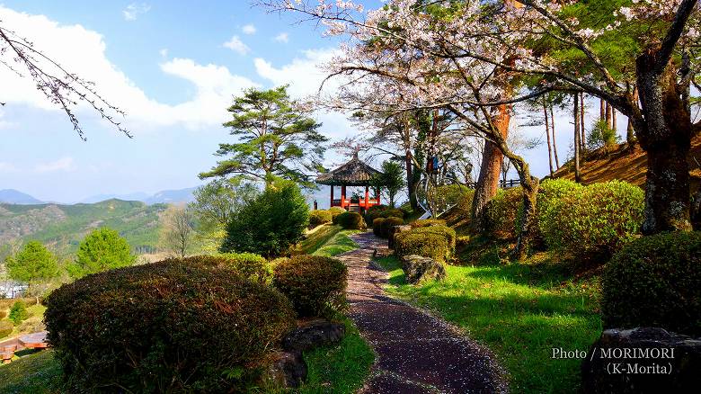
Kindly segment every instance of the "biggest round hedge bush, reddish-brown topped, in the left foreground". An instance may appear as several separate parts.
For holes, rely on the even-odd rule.
[[[75,392],[244,392],[295,325],[279,291],[173,260],[88,275],[46,306],[49,343]]]

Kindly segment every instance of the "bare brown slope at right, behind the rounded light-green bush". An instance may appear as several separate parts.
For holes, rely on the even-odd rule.
[[[701,136],[691,140],[688,165],[691,189],[696,191],[701,184]],[[590,152],[581,163],[581,182],[595,184],[617,179],[643,187],[646,172],[647,154],[640,147],[630,149],[624,143],[616,148],[599,148]],[[557,170],[553,177],[573,180],[572,160]]]

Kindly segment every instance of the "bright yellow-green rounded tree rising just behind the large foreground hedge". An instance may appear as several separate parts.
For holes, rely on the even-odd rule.
[[[90,273],[127,267],[136,261],[137,256],[131,254],[131,246],[117,231],[98,228],[80,243],[75,264],[69,265],[68,272],[71,276],[80,278]]]

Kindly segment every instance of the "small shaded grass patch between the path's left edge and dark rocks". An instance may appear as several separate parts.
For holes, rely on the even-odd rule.
[[[318,348],[304,357],[309,374],[300,394],[356,392],[375,361],[372,349],[350,320],[346,320],[346,336],[340,345]]]

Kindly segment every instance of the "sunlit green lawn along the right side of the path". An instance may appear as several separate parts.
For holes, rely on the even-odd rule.
[[[551,359],[552,348],[586,351],[601,333],[597,279],[571,281],[556,262],[448,266],[444,282],[404,283],[395,257],[387,291],[439,314],[486,345],[513,392],[577,392],[581,360]],[[548,258],[546,258],[548,260]],[[550,263],[550,264],[547,264]]]

